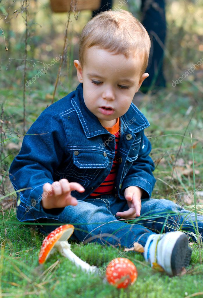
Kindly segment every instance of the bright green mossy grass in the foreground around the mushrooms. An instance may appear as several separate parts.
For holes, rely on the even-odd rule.
[[[171,278],[150,268],[139,253],[124,253],[123,249],[97,243],[72,242],[71,249],[76,255],[101,269],[119,254],[135,264],[137,281],[126,290],[118,290],[109,284],[104,286],[98,276],[82,273],[58,252],[39,265],[38,254],[44,237],[32,227],[19,223],[14,209],[4,212],[3,220],[1,213],[0,236],[4,248],[1,249],[2,297],[159,298],[163,295],[179,298],[202,291],[203,265],[199,265],[197,244],[193,244],[187,274]]]

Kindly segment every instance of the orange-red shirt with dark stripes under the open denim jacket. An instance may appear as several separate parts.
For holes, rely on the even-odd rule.
[[[89,195],[90,198],[99,198],[100,195],[104,195],[104,194],[112,194],[113,193],[113,189],[114,189],[114,184],[115,184],[115,178],[117,175],[117,170],[118,170],[118,156],[117,156],[117,149],[118,149],[118,142],[120,139],[120,135],[119,135],[119,118],[117,118],[117,121],[115,123],[115,125],[113,125],[112,127],[104,127],[107,129],[107,131],[109,131],[111,134],[115,135],[115,156],[114,156],[114,160],[113,160],[113,165],[111,168],[111,171],[109,173],[109,175],[106,177],[106,179],[104,180],[104,182],[102,182],[99,187],[96,188],[96,190],[93,191],[93,193],[91,193]]]

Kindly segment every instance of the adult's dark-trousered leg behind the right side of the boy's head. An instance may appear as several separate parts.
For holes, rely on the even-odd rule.
[[[146,72],[149,77],[144,80],[140,90],[146,93],[149,89],[165,87],[163,75],[163,55],[166,37],[165,0],[142,0],[141,23],[151,38],[149,64]]]

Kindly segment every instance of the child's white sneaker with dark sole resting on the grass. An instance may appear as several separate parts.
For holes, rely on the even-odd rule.
[[[180,231],[152,234],[144,247],[144,258],[153,266],[161,266],[169,275],[177,275],[191,259],[188,237]]]

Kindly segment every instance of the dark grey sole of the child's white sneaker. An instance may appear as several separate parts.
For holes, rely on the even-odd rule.
[[[171,254],[171,270],[173,275],[179,274],[183,267],[189,265],[191,254],[192,251],[188,246],[188,237],[183,234],[177,239]]]

